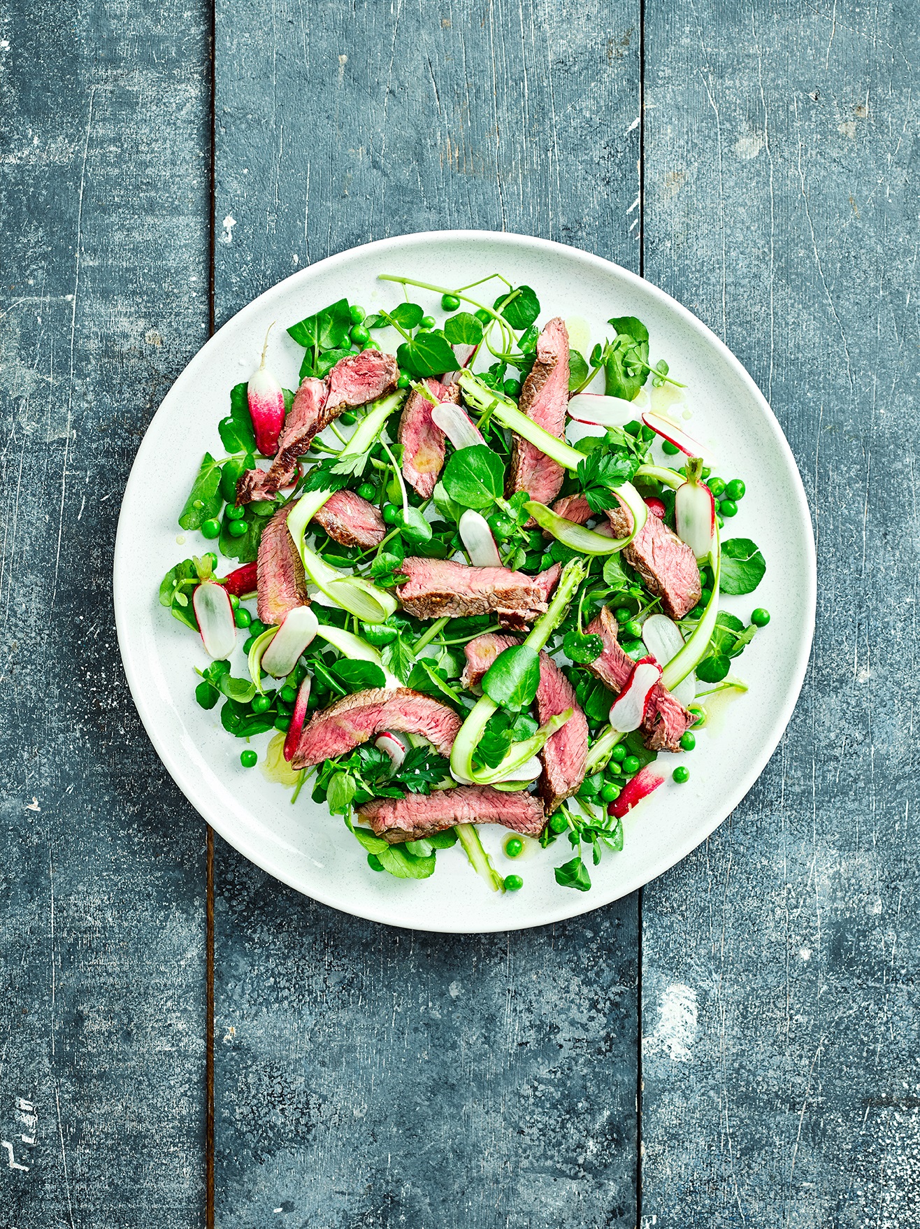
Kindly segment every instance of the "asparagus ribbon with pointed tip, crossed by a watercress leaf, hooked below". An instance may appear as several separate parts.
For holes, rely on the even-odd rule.
[[[536,653],[545,648],[550,635],[565,618],[569,602],[572,600],[575,590],[585,579],[587,571],[587,564],[583,559],[570,559],[566,563],[547,613],[537,619],[529,635],[523,642]],[[505,779],[509,773],[520,768],[521,764],[527,763],[531,756],[536,756],[538,751],[542,751],[547,741],[572,715],[572,709],[567,708],[564,713],[552,717],[532,737],[526,739],[523,742],[516,742],[497,767],[475,769],[473,767],[473,752],[479,745],[489,718],[497,708],[499,705],[495,701],[489,699],[488,696],[483,696],[459,728],[457,737],[453,740],[453,747],[451,748],[451,772],[457,780],[490,785],[493,782]]]

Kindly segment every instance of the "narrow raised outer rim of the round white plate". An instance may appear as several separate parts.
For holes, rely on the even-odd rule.
[[[636,289],[641,289],[642,294],[651,294],[653,299],[658,300],[662,307],[667,308],[672,313],[676,313],[684,322],[685,326],[688,326],[693,332],[695,332],[703,339],[703,342],[705,342],[711,349],[716,351],[719,358],[721,358],[725,363],[727,363],[727,365],[733,370],[736,376],[739,377],[742,383],[747,387],[748,392],[753,396],[755,402],[758,402],[760,409],[765,412],[764,418],[770,430],[770,434],[774,438],[774,442],[778,445],[779,452],[782,455],[787,469],[790,469],[793,476],[792,485],[795,489],[797,511],[800,514],[801,522],[803,525],[807,525],[808,527],[808,532],[803,535],[805,554],[806,554],[805,562],[806,562],[807,586],[808,586],[808,591],[806,595],[807,622],[800,629],[796,658],[795,658],[795,667],[793,667],[793,682],[785,696],[782,705],[780,707],[779,712],[773,719],[771,735],[768,739],[768,750],[765,752],[762,752],[762,755],[759,755],[754,761],[752,761],[752,767],[739,777],[735,789],[728,793],[728,804],[723,814],[719,815],[719,817],[715,819],[711,823],[706,823],[705,831],[701,827],[694,828],[693,834],[687,841],[678,842],[677,846],[671,847],[671,849],[667,853],[663,853],[657,859],[652,860],[651,869],[634,874],[630,879],[625,881],[617,882],[614,891],[610,895],[602,893],[599,897],[594,897],[593,900],[590,901],[588,900],[582,901],[581,897],[579,897],[571,902],[572,906],[576,906],[574,908],[567,907],[564,903],[565,898],[563,898],[560,901],[559,908],[547,909],[543,917],[538,919],[522,921],[518,924],[506,924],[505,921],[502,919],[501,922],[494,925],[488,924],[488,925],[480,925],[475,928],[463,928],[463,929],[457,929],[456,925],[439,927],[436,924],[421,928],[418,924],[407,922],[397,916],[393,916],[392,907],[370,908],[370,909],[364,909],[360,913],[345,909],[343,908],[339,900],[328,898],[327,893],[324,892],[318,892],[312,890],[307,892],[302,886],[300,886],[297,882],[294,881],[296,876],[294,875],[287,876],[284,873],[279,873],[278,868],[270,869],[268,865],[265,865],[264,863],[269,859],[259,857],[260,850],[258,848],[258,843],[257,841],[251,838],[248,833],[246,832],[241,833],[237,831],[233,833],[233,836],[227,834],[227,832],[225,831],[225,826],[220,822],[220,815],[217,815],[217,822],[215,822],[214,814],[206,812],[204,801],[199,803],[194,785],[185,779],[187,768],[179,762],[178,757],[173,757],[171,752],[163,745],[161,745],[157,734],[157,721],[150,709],[150,705],[147,704],[144,688],[140,686],[140,680],[138,677],[139,666],[134,660],[134,654],[130,643],[130,630],[127,627],[127,614],[124,610],[125,602],[122,597],[124,586],[129,580],[127,569],[129,567],[129,556],[130,556],[130,551],[127,549],[127,543],[125,543],[125,537],[128,533],[128,530],[125,528],[125,520],[127,520],[125,508],[129,500],[134,498],[135,494],[134,488],[140,487],[141,484],[140,463],[142,454],[145,451],[145,445],[147,444],[150,429],[156,419],[156,415],[161,412],[163,404],[173,396],[176,390],[181,390],[188,375],[189,369],[193,365],[198,365],[199,360],[206,356],[210,349],[216,348],[217,339],[221,336],[221,333],[225,329],[227,329],[231,324],[233,326],[240,323],[244,324],[246,317],[248,315],[257,315],[258,311],[260,310],[260,305],[263,305],[264,301],[270,296],[283,293],[283,288],[290,288],[292,284],[300,281],[308,281],[318,269],[323,269],[327,272],[329,269],[334,269],[337,264],[344,264],[349,258],[354,257],[355,253],[384,252],[388,248],[405,247],[407,245],[410,247],[424,247],[426,243],[430,243],[432,241],[443,242],[445,240],[454,242],[463,242],[463,241],[481,242],[484,240],[486,241],[490,240],[494,242],[505,243],[510,247],[518,247],[518,248],[524,247],[524,248],[536,248],[537,251],[550,251],[558,254],[563,254],[570,259],[575,258],[577,261],[586,262],[588,265],[593,265],[596,269],[601,272],[613,273],[615,277],[625,280],[628,285],[633,285]],[[178,393],[178,396],[181,396],[181,392]],[[593,252],[586,252],[583,248],[574,247],[570,243],[559,243],[555,240],[540,238],[538,236],[532,236],[532,235],[521,235],[512,231],[494,231],[494,230],[464,229],[464,230],[414,231],[407,235],[393,235],[388,236],[387,238],[373,240],[368,243],[360,243],[354,247],[345,248],[341,252],[337,252],[332,256],[327,256],[322,261],[317,261],[313,264],[306,265],[302,269],[297,269],[295,273],[289,274],[280,281],[276,281],[273,286],[269,286],[267,290],[263,290],[259,295],[257,295],[248,304],[241,307],[240,311],[232,315],[228,320],[226,320],[221,324],[221,327],[216,329],[211,334],[211,337],[208,338],[205,344],[200,347],[200,349],[198,349],[195,354],[188,360],[185,366],[182,369],[179,375],[176,377],[176,380],[167,390],[166,396],[157,406],[157,409],[151,415],[150,422],[147,423],[147,426],[144,431],[144,438],[141,439],[134,461],[131,462],[128,482],[125,483],[124,495],[122,497],[122,504],[118,515],[118,528],[115,532],[114,557],[113,557],[113,606],[115,616],[115,630],[118,635],[118,648],[122,658],[122,665],[128,681],[128,687],[131,693],[134,705],[138,710],[138,715],[140,717],[141,724],[144,725],[144,729],[154,746],[154,750],[156,751],[163,767],[170,773],[170,775],[172,777],[173,782],[176,783],[176,785],[178,787],[185,800],[192,804],[192,806],[198,811],[198,814],[201,816],[205,823],[208,823],[215,832],[217,832],[219,836],[224,837],[224,839],[227,841],[227,843],[231,844],[238,853],[241,853],[249,862],[254,863],[257,866],[259,866],[260,870],[265,871],[265,874],[270,875],[273,879],[276,879],[280,882],[285,884],[287,887],[294,889],[296,892],[300,892],[300,895],[307,897],[308,900],[317,901],[321,905],[327,906],[328,908],[338,909],[346,917],[357,917],[366,919],[368,922],[380,923],[382,925],[394,925],[400,929],[420,930],[421,933],[427,932],[436,934],[496,934],[496,933],[505,933],[509,930],[526,930],[526,929],[532,929],[533,927],[550,925],[555,922],[561,922],[567,918],[581,917],[585,913],[590,913],[593,912],[594,909],[603,908],[607,905],[612,905],[614,901],[622,900],[624,896],[629,896],[631,892],[636,891],[640,887],[644,887],[646,884],[652,882],[652,880],[658,879],[672,866],[676,866],[678,863],[683,862],[684,858],[689,857],[689,854],[693,853],[694,849],[699,848],[699,846],[701,846],[706,839],[709,839],[709,837],[716,831],[716,828],[720,827],[726,819],[728,819],[732,811],[735,811],[735,809],[738,806],[738,804],[742,801],[746,794],[758,780],[764,768],[766,767],[773,755],[775,753],[778,746],[780,745],[786,726],[789,725],[792,718],[792,713],[795,712],[795,707],[798,703],[798,698],[802,692],[802,686],[805,683],[805,677],[808,671],[808,664],[811,659],[813,638],[814,638],[816,613],[817,613],[817,551],[814,544],[814,525],[812,521],[812,512],[805,492],[802,476],[800,473],[798,465],[796,462],[792,449],[789,444],[789,440],[786,439],[786,435],[780,425],[779,419],[776,418],[775,413],[773,412],[773,408],[770,407],[765,396],[757,385],[757,381],[747,370],[744,364],[732,353],[732,350],[728,349],[726,343],[720,337],[717,337],[712,332],[712,329],[709,328],[708,324],[705,324],[688,307],[684,307],[683,304],[678,302],[678,300],[674,299],[672,295],[669,295],[666,290],[662,290],[660,286],[656,286],[653,283],[640,277],[637,273],[633,273],[631,269],[626,269],[623,265],[617,264],[614,261],[608,261],[606,257],[597,256]],[[719,806],[715,809],[715,814],[719,814],[722,810],[723,806]],[[231,823],[227,827],[232,828],[233,825]],[[583,906],[583,907],[577,907],[577,906]]]

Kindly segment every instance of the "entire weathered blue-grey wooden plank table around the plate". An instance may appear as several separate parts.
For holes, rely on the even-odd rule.
[[[0,9],[0,1229],[920,1223],[918,66],[911,4]],[[211,841],[111,605],[128,469],[209,331],[451,226],[706,321],[819,560],[796,715],[705,847],[457,939]]]

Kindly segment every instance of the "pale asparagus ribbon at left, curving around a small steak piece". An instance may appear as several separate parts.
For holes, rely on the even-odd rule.
[[[404,396],[400,390],[376,402],[339,454],[339,458],[348,460],[366,452],[383,430],[389,415],[399,409]],[[397,607],[392,594],[361,576],[343,575],[305,544],[307,525],[333,494],[333,490],[326,489],[308,490],[301,495],[287,517],[287,532],[303,560],[303,570],[330,602],[349,614],[356,614],[365,623],[386,623]]]

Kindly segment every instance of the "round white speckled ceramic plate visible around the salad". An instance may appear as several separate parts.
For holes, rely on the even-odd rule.
[[[439,853],[427,880],[371,871],[341,820],[313,804],[307,790],[291,806],[289,791],[258,768],[241,767],[244,744],[221,729],[219,707],[205,712],[194,699],[193,667],[206,665],[199,639],[157,601],[163,574],[211,546],[192,532],[181,542],[176,517],[201,455],[221,455],[217,420],[228,413],[231,387],[257,365],[271,321],[278,328],[270,365],[284,385],[296,387],[302,350],[284,332],[295,321],[343,295],[368,311],[398,301],[398,288],[377,281],[380,273],[450,286],[495,270],[533,286],[540,320],[564,316],[574,344],[583,347],[588,332],[591,344],[602,339],[612,316],[645,322],[652,363],[666,358],[672,375],[688,386],[688,429],[717,441],[722,477],[747,483],[723,537],[753,537],[766,558],[755,594],[723,600],[723,608],[746,621],[755,606],[773,611],[773,622],[737,661],[748,693],[732,701],[730,719],[715,714],[694,752],[674,757],[689,767],[689,783],[677,785],[668,775],[628,817],[623,852],[604,854],[585,893],[559,887],[553,878],[553,868],[570,857],[567,842],[512,864],[501,853],[505,830],[497,827],[481,828],[483,841],[505,874],[513,868],[522,875],[518,892],[490,892],[459,846]],[[440,318],[437,295],[413,297]],[[235,565],[221,560],[219,571]],[[171,388],[138,452],[118,526],[114,600],[128,682],[154,746],[189,801],[242,854],[291,887],[359,917],[423,930],[507,930],[574,917],[631,892],[685,857],[744,796],[773,755],[805,676],[814,622],[814,544],[802,483],[776,419],[738,360],[690,312],[635,274],[571,247],[520,235],[443,231],[383,240],[303,269],[208,342]],[[242,637],[240,656],[241,644]],[[244,666],[233,672],[244,675]],[[262,751],[268,740],[264,735],[254,746]],[[671,767],[667,755],[661,758]]]

